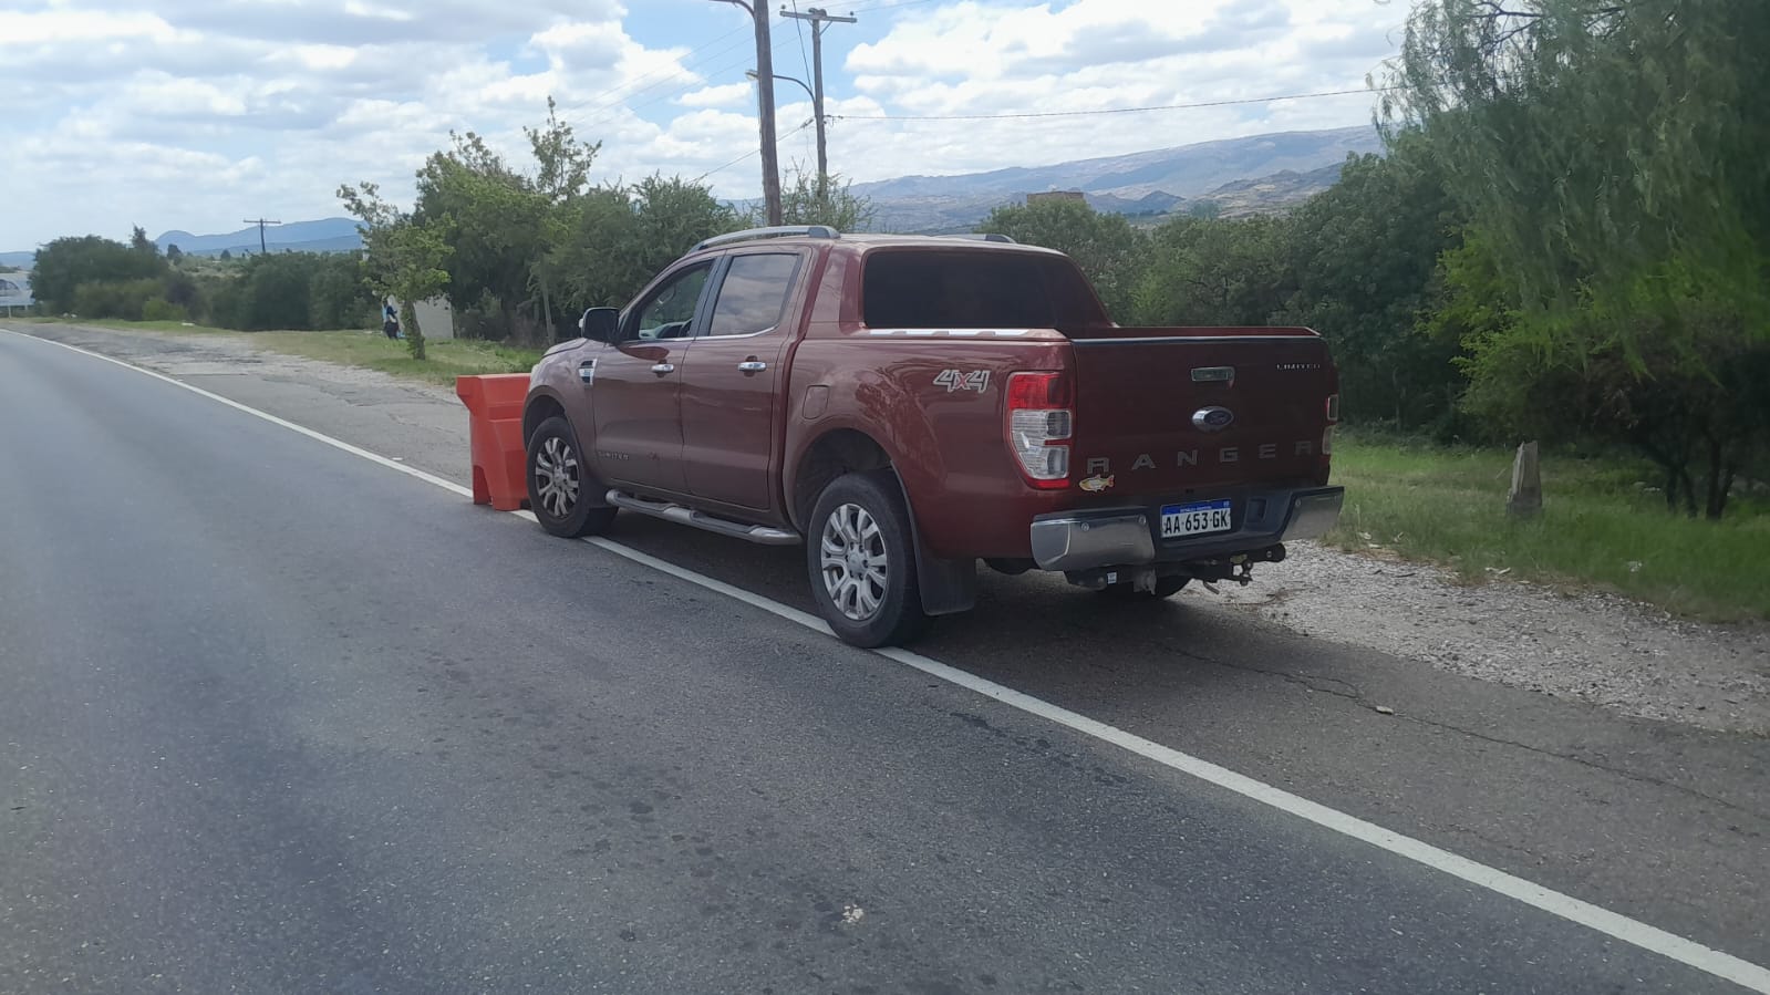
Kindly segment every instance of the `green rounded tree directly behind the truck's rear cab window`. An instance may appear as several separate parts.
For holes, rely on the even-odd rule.
[[[1108,315],[1126,320],[1131,313],[1149,239],[1122,214],[1099,214],[1080,200],[1007,204],[984,218],[982,230],[1067,253],[1094,283]]]

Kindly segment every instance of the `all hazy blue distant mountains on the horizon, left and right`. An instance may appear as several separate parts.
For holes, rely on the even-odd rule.
[[[1154,220],[1209,209],[1235,218],[1306,200],[1340,179],[1349,152],[1381,150],[1382,140],[1370,126],[1283,131],[1050,166],[857,182],[851,191],[873,200],[874,225],[890,232],[968,230],[993,207],[1021,204],[1028,193],[1058,189],[1081,191],[1103,212]],[[349,251],[363,246],[350,218],[271,225],[264,241],[273,251]],[[161,251],[175,244],[191,255],[242,255],[258,251],[258,228],[225,235],[173,230],[154,243]],[[0,264],[30,266],[32,257],[30,251],[0,253]]]

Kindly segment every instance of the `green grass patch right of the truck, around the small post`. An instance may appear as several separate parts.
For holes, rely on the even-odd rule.
[[[1347,489],[1326,542],[1450,567],[1469,581],[1503,575],[1604,588],[1676,614],[1770,618],[1770,505],[1729,503],[1720,522],[1666,512],[1646,466],[1543,453],[1543,510],[1506,515],[1512,453],[1381,437],[1335,441]]]

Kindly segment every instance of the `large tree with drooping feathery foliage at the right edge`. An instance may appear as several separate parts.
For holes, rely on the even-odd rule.
[[[1770,5],[1430,0],[1386,115],[1420,126],[1515,312],[1467,340],[1471,397],[1538,377],[1720,517],[1765,460]],[[1759,427],[1754,430],[1754,427]]]

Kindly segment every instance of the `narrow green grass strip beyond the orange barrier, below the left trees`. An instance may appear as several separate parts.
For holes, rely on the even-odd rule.
[[[381,370],[409,381],[455,386],[455,377],[473,374],[527,374],[540,351],[513,349],[496,342],[467,342],[458,338],[432,338],[425,342],[425,359],[412,359],[404,342],[393,342],[375,331],[232,331],[225,328],[188,326],[175,320],[87,320],[87,319],[27,319],[41,324],[85,324],[122,331],[161,331],[170,335],[237,335],[253,345],[285,356],[306,356],[347,366]]]

